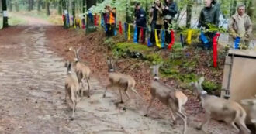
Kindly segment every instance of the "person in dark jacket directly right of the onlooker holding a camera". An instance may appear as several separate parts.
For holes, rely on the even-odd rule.
[[[165,43],[171,43],[171,35],[168,30],[171,25],[172,19],[178,13],[178,6],[173,0],[164,0],[164,29],[165,29]]]

